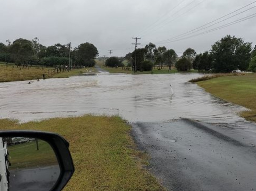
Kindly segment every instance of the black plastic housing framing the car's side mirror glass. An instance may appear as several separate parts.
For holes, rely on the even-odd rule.
[[[52,191],[62,190],[73,175],[74,164],[68,149],[69,143],[62,136],[56,133],[42,131],[0,131],[0,137],[28,137],[41,139],[52,147],[60,167],[60,175],[56,184],[51,189]]]

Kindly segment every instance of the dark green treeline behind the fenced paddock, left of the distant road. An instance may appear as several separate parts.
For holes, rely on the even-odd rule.
[[[8,44],[0,42],[0,61],[6,64],[14,62],[17,66],[42,65],[56,67],[67,66],[69,63],[70,44],[57,43],[52,46],[44,46],[38,38],[33,40],[17,39]],[[98,55],[97,48],[88,42],[80,44],[70,50],[70,62],[73,66],[93,67],[94,59]]]

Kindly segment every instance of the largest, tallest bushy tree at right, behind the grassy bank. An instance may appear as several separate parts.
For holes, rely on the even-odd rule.
[[[227,35],[212,45],[211,54],[215,72],[247,70],[251,58],[251,43],[244,43],[242,38]]]

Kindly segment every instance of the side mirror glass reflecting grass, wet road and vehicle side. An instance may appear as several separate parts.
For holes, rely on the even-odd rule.
[[[49,191],[60,175],[52,147],[28,137],[0,137],[0,190]]]

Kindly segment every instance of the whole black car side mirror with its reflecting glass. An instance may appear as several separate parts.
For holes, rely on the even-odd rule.
[[[0,131],[0,190],[62,190],[74,173],[68,147],[55,133]]]

